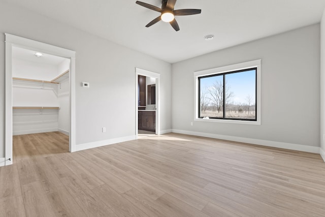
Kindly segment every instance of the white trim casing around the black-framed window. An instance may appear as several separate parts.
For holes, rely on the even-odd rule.
[[[220,122],[220,123],[239,123],[245,125],[261,125],[261,111],[262,111],[262,96],[261,96],[261,82],[262,82],[262,67],[261,67],[262,59],[247,61],[245,63],[234,64],[230,66],[223,66],[214,69],[207,69],[194,72],[194,121],[206,121],[206,122]],[[225,72],[231,72],[234,70],[243,70],[249,69],[252,67],[256,67],[256,121],[251,120],[225,120],[225,119],[202,119],[198,118],[199,112],[199,102],[198,102],[198,95],[199,95],[199,80],[198,78],[204,75],[212,75],[212,74],[219,74]]]

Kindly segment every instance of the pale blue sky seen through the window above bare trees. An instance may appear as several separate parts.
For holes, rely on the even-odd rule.
[[[201,90],[211,86],[216,80],[222,81],[222,76],[201,78]],[[247,104],[247,96],[251,96],[252,103],[255,103],[255,70],[232,73],[225,75],[226,86],[233,92],[231,102],[234,104]]]

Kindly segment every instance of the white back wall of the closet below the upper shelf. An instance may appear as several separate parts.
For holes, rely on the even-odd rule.
[[[14,107],[59,107],[58,84],[13,80]],[[57,109],[13,109],[13,135],[57,131]]]

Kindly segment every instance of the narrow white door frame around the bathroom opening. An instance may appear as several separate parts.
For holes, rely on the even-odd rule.
[[[136,139],[138,139],[138,75],[156,79],[156,135],[160,135],[160,74],[148,70],[136,68]],[[147,86],[146,86],[147,88]]]

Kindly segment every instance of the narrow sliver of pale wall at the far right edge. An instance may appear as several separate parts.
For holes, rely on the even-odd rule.
[[[325,10],[320,22],[320,154],[325,161]]]

